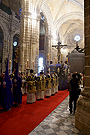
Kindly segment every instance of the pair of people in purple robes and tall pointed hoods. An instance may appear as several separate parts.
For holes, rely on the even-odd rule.
[[[7,59],[6,71],[0,77],[0,106],[3,111],[11,110],[12,106],[22,103],[22,79],[17,68],[13,78],[9,75],[9,58]]]

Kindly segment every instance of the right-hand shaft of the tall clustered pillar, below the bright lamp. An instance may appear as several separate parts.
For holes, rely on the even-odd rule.
[[[38,72],[40,15],[32,20],[32,68]]]

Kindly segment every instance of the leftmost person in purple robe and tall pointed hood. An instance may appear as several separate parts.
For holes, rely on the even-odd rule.
[[[12,80],[9,76],[9,56],[7,59],[6,71],[3,73],[1,91],[2,91],[2,102],[1,107],[3,111],[11,110],[13,106],[13,96],[12,96]]]

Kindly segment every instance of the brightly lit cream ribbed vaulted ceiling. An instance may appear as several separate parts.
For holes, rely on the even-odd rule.
[[[57,30],[59,29],[61,38],[68,38],[67,35],[72,31],[77,31],[77,34],[82,32],[84,27],[84,0],[44,0],[41,10],[44,12],[48,23]]]

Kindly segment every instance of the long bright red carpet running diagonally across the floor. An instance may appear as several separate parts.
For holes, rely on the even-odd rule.
[[[27,95],[24,95],[20,107],[0,112],[0,135],[28,135],[68,94],[67,90],[59,91],[54,96],[33,104],[27,104]]]

